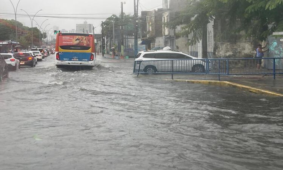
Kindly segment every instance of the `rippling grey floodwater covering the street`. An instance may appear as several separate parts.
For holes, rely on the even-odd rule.
[[[281,98],[54,60],[0,83],[1,170],[283,169]]]

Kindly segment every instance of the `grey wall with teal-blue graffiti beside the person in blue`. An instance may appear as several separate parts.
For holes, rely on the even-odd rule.
[[[268,58],[283,58],[283,42],[280,41],[283,38],[268,38],[268,53],[266,57]],[[273,69],[273,60],[269,60],[265,63],[267,69]],[[283,70],[282,59],[275,59],[275,69]]]

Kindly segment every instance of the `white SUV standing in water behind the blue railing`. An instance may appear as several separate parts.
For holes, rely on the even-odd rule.
[[[206,68],[205,59],[199,59],[178,51],[142,51],[136,55],[135,61],[148,61],[136,62],[139,71],[145,73],[205,73]]]

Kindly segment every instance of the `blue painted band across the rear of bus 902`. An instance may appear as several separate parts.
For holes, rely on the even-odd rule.
[[[62,61],[90,61],[91,53],[59,52]]]

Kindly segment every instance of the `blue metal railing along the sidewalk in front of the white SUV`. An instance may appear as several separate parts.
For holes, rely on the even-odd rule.
[[[261,63],[261,70],[256,70]],[[258,75],[283,74],[283,58],[207,58],[135,61],[134,73]]]

